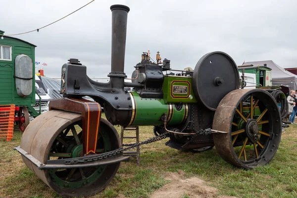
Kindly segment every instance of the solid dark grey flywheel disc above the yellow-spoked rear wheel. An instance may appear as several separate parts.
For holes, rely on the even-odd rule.
[[[239,73],[234,60],[221,51],[202,56],[193,73],[193,91],[198,102],[215,110],[221,99],[239,88]]]

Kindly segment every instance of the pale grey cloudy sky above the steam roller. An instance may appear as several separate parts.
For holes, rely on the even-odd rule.
[[[91,0],[1,1],[0,30],[26,32],[47,25]],[[143,51],[160,51],[171,67],[195,68],[210,51],[224,51],[241,65],[273,60],[297,67],[296,0],[95,0],[67,18],[15,36],[37,46],[36,61],[48,77],[59,77],[69,58],[78,58],[93,78],[110,72],[112,4],[130,7],[125,72],[131,76]]]

